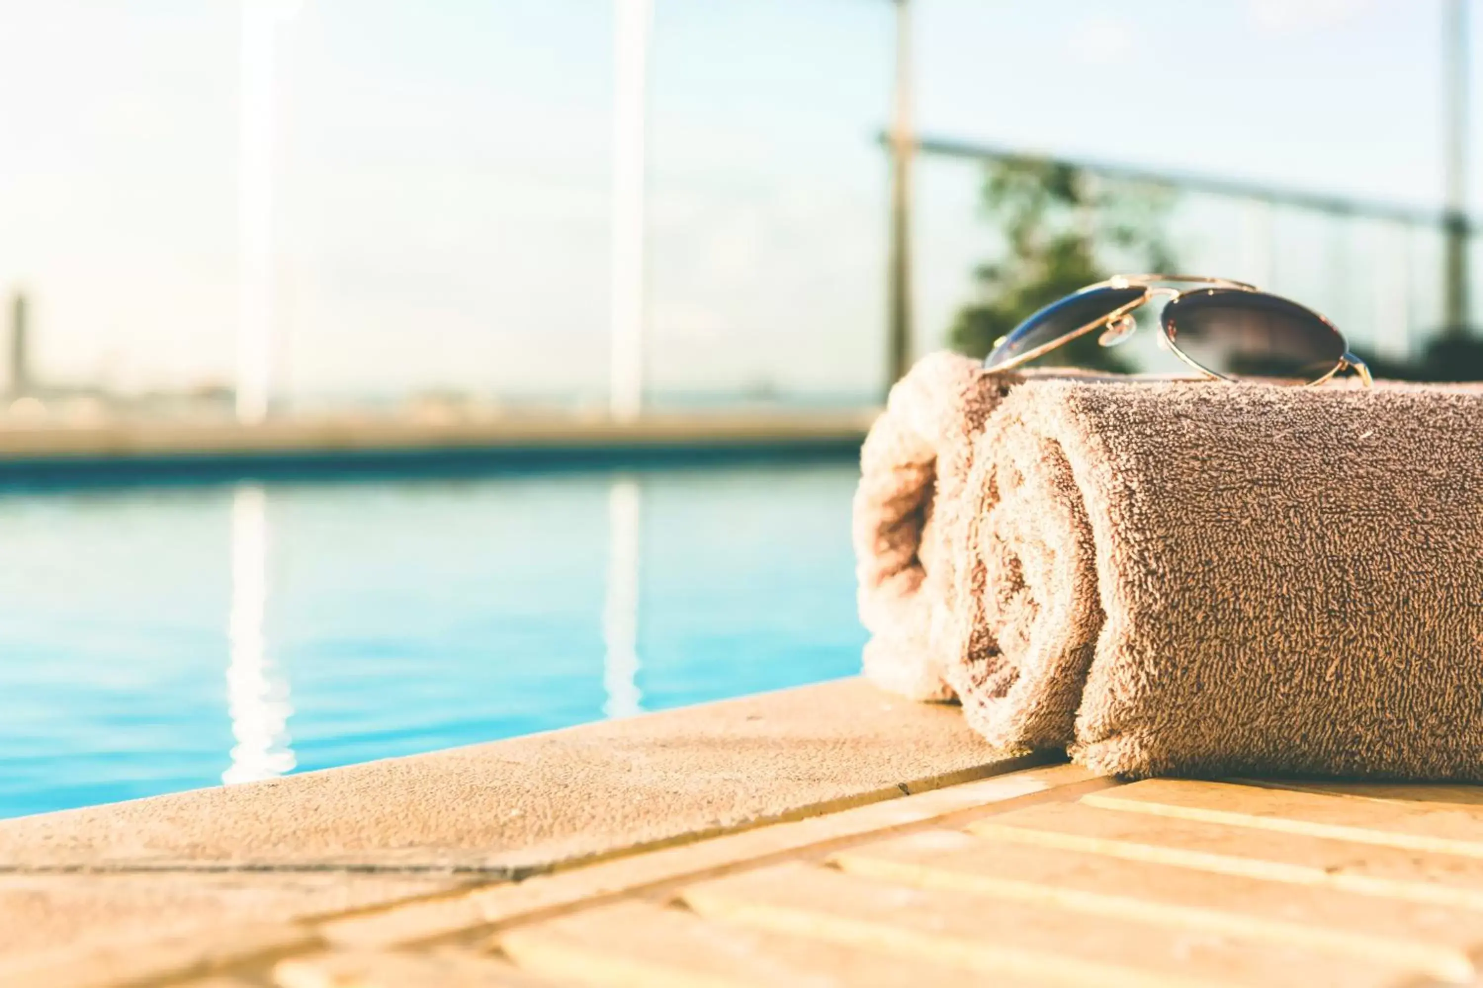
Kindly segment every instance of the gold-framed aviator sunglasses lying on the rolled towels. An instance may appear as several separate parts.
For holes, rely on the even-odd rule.
[[[1180,290],[1170,281],[1201,287]],[[1133,310],[1155,296],[1169,299],[1158,317],[1160,344],[1207,378],[1314,385],[1354,370],[1370,384],[1370,369],[1318,313],[1244,281],[1183,274],[1126,274],[1090,284],[1001,336],[983,366],[1010,370],[1097,329],[1099,344],[1117,347],[1137,329]]]

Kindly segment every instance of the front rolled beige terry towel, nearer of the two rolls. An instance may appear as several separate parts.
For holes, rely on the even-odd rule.
[[[991,742],[1483,781],[1483,394],[1037,381],[968,461],[942,670]]]

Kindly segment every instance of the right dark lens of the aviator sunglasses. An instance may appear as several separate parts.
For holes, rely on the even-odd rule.
[[[1317,381],[1339,366],[1344,336],[1317,313],[1262,292],[1210,289],[1164,307],[1186,357],[1228,378]]]

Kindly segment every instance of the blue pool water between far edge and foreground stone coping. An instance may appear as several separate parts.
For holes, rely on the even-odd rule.
[[[850,674],[854,477],[0,492],[0,816]]]

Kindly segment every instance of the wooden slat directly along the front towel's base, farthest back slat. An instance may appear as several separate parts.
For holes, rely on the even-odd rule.
[[[1093,792],[1103,809],[1483,858],[1483,806],[1397,803],[1229,782],[1148,779]]]

